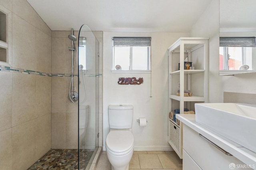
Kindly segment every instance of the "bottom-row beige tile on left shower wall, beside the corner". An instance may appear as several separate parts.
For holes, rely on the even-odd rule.
[[[51,149],[51,114],[36,119],[36,158]]]

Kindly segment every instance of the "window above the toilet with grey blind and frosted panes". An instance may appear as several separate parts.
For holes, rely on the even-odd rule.
[[[150,70],[150,37],[113,37],[113,70]]]

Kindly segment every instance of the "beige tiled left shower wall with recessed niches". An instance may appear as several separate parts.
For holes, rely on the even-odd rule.
[[[11,67],[0,71],[0,169],[24,170],[51,148],[51,30],[26,0],[0,0],[11,11]],[[1,63],[0,63],[1,65]],[[35,74],[34,74],[35,73]]]

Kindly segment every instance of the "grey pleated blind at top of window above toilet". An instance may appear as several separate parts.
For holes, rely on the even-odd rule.
[[[113,37],[114,46],[150,46],[151,37]]]

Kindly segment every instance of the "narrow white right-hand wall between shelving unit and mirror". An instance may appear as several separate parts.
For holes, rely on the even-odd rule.
[[[209,38],[209,103],[223,102],[219,76],[219,0],[212,0],[190,31],[191,37]]]

